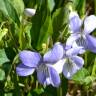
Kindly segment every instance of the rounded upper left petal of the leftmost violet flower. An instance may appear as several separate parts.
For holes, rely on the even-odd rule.
[[[22,63],[29,67],[36,67],[41,60],[41,55],[39,53],[27,50],[21,51],[19,57]]]

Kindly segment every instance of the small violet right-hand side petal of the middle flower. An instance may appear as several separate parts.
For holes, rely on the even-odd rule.
[[[78,69],[82,68],[82,66],[84,64],[84,60],[81,57],[79,57],[79,56],[73,56],[71,59],[76,64],[76,66],[78,67]]]

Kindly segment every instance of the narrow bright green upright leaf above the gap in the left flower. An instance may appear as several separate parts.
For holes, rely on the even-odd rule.
[[[51,17],[47,16],[44,24],[40,29],[40,35],[37,42],[37,49],[41,48],[43,43],[47,43],[49,37],[52,36],[53,29],[52,29],[52,22]]]

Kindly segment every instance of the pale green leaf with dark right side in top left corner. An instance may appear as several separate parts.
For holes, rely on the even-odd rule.
[[[0,10],[7,18],[11,18],[15,23],[20,25],[18,14],[15,8],[8,0],[0,0]]]

